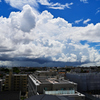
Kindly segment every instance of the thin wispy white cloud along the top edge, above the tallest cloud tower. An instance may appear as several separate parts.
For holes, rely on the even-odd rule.
[[[48,8],[51,9],[64,9],[64,8],[70,8],[71,5],[73,5],[73,3],[66,3],[66,4],[61,4],[61,3],[53,3],[50,2],[50,0],[5,0],[6,3],[9,3],[12,7],[21,9],[23,8],[24,5],[29,4],[31,7],[33,8],[38,8],[38,5],[44,5],[47,6]],[[35,12],[37,12],[34,9]]]

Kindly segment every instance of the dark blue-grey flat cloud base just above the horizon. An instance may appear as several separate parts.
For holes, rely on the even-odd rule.
[[[29,59],[29,58],[9,58],[8,56],[4,55],[4,57],[0,58],[0,61],[8,61],[9,67],[64,67],[67,66],[81,66],[82,64],[86,64],[89,62],[61,62],[61,61],[52,61],[51,58],[36,58],[36,59]],[[3,66],[3,65],[1,65]]]

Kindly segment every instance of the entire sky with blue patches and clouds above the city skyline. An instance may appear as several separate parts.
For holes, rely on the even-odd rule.
[[[0,66],[100,66],[100,0],[0,0]]]

